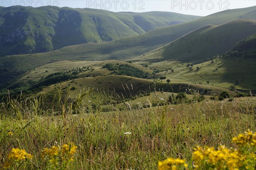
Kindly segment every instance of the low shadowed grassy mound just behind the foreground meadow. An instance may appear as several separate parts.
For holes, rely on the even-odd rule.
[[[146,94],[149,91],[165,91],[165,92],[186,92],[187,88],[194,89],[211,89],[212,93],[220,93],[226,88],[220,88],[212,85],[194,85],[186,84],[183,82],[168,84],[167,82],[154,83],[152,79],[140,79],[128,76],[103,76],[103,77],[90,77],[79,78],[67,82],[61,82],[56,85],[50,85],[44,88],[39,94],[47,94],[53,96],[58,94],[57,89],[61,88],[64,94],[67,92],[68,87],[75,87],[71,91],[70,97],[74,99],[78,96],[79,92],[84,88],[94,88],[94,94],[107,94],[114,96],[117,99],[129,98],[138,94]],[[188,91],[187,91],[188,92]]]

